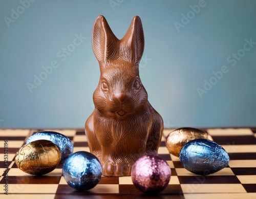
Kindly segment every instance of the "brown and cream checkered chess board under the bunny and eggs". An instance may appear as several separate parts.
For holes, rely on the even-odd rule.
[[[89,151],[83,129],[44,129],[66,135],[74,144],[74,152]],[[178,157],[169,154],[165,137],[174,129],[164,129],[159,148],[172,170],[168,186],[160,198],[256,198],[256,131],[250,128],[206,129],[215,142],[229,154],[228,167],[207,176],[193,174],[184,169]],[[34,176],[16,167],[14,157],[34,132],[42,129],[0,129],[0,198],[147,198],[135,188],[131,176],[102,176],[99,184],[86,192],[71,188],[61,175],[62,164],[52,172]],[[7,144],[5,144],[7,143]],[[6,156],[5,156],[6,155]],[[8,158],[8,162],[4,162]],[[8,195],[5,182],[8,182]]]

